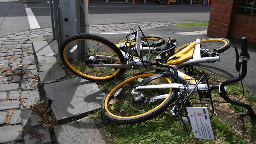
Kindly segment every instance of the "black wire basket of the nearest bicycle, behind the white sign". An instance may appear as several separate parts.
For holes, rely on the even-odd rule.
[[[207,107],[210,114],[210,119],[214,114],[213,100],[211,97],[211,90],[209,85],[209,80],[207,75],[203,75],[201,78],[195,79],[193,76],[191,79],[186,79],[189,81],[184,86],[180,92],[177,93],[176,101],[173,103],[174,107],[171,110],[172,114],[180,117],[180,124],[185,127],[187,134],[188,130],[192,130],[190,125],[189,116],[187,113],[187,107]],[[189,84],[193,83],[193,84]],[[207,89],[198,89],[198,85],[207,84]],[[194,87],[191,92],[187,91],[188,87]]]

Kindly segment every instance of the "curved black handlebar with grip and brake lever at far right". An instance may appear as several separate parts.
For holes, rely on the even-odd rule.
[[[241,75],[239,75],[236,78],[231,78],[231,79],[228,79],[228,80],[224,81],[223,83],[221,83],[219,94],[227,102],[230,102],[234,105],[238,105],[238,106],[246,108],[247,112],[246,113],[241,113],[240,114],[241,116],[244,117],[244,116],[249,115],[251,118],[256,119],[256,114],[254,113],[254,111],[253,111],[253,109],[250,105],[248,105],[246,103],[239,102],[239,101],[234,100],[234,99],[230,99],[227,96],[226,90],[224,89],[225,86],[228,85],[228,84],[241,81],[243,78],[245,78],[246,73],[247,73],[247,60],[250,59],[250,56],[249,56],[248,51],[247,51],[247,38],[246,37],[241,38],[241,53],[240,53],[239,56],[238,56],[237,48],[236,47],[234,47],[234,48],[235,48],[235,51],[236,51],[236,70],[239,72],[240,68],[242,66],[242,73],[241,73]]]

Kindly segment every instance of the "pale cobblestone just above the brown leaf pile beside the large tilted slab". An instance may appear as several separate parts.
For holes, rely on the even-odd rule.
[[[23,91],[21,92],[21,97],[22,98],[27,98],[24,99],[22,103],[22,109],[28,109],[30,104],[34,104],[39,102],[40,96],[38,90],[33,90],[33,91]]]

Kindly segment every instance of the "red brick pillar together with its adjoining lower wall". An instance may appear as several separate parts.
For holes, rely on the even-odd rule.
[[[245,6],[245,0],[212,0],[207,35],[256,42],[256,17],[239,14],[239,6]]]

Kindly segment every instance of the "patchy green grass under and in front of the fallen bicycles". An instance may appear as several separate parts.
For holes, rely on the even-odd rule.
[[[155,55],[154,55],[155,56]],[[154,67],[151,69],[154,70]],[[147,71],[145,68],[142,69],[143,72]],[[98,83],[100,89],[107,91],[113,87],[121,79],[127,78],[131,75],[137,74],[141,71],[137,69],[130,69],[121,76],[120,79],[112,80],[104,83]],[[197,78],[202,76],[202,74],[207,74],[209,78],[216,79],[221,82],[225,79],[212,74],[206,70],[203,70],[197,66],[194,66],[193,74],[190,76],[196,76]],[[244,89],[245,95],[242,99],[243,102],[252,105],[253,109],[256,111],[256,97],[251,96],[247,89]],[[243,89],[239,83],[235,83],[228,86],[228,95],[231,98],[239,99],[243,95]],[[218,90],[212,92],[213,100],[224,101],[223,98],[219,97]],[[237,107],[239,111],[245,112],[241,107]],[[243,118],[243,120],[238,120],[238,112],[232,105],[226,104],[224,106],[216,106],[215,112],[217,116],[213,116],[211,119],[211,124],[213,127],[213,133],[215,140],[203,140],[194,138],[193,132],[189,131],[187,135],[186,130],[180,125],[180,119],[175,116],[171,116],[169,111],[165,111],[160,115],[141,122],[139,124],[130,125],[118,125],[110,122],[103,118],[104,126],[106,129],[106,136],[108,142],[114,144],[211,144],[211,143],[254,143],[256,136],[256,120],[250,119],[249,116]],[[224,116],[221,116],[221,113]],[[102,118],[100,111],[89,114],[92,119]],[[244,122],[244,124],[243,124]]]

